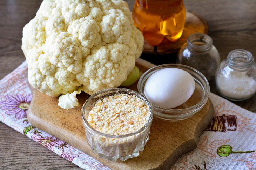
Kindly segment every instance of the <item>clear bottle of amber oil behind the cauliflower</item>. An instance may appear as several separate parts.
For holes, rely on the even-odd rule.
[[[185,25],[183,0],[135,0],[133,20],[150,45],[178,40]]]

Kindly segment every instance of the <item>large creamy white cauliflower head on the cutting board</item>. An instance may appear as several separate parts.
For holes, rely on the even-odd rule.
[[[120,86],[143,46],[122,0],[44,0],[23,28],[28,81],[53,97]]]

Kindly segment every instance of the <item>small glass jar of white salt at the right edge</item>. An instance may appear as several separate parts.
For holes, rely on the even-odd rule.
[[[216,72],[216,86],[223,97],[242,101],[256,93],[256,65],[252,54],[237,49],[228,54]]]

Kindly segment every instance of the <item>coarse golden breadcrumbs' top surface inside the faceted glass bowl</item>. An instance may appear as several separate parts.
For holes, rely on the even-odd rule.
[[[111,135],[136,132],[149,120],[149,106],[135,95],[119,94],[98,101],[88,116],[97,131]]]

